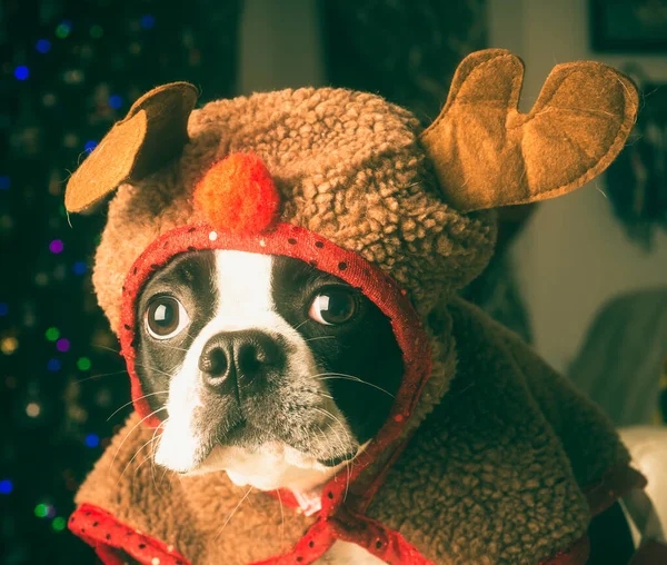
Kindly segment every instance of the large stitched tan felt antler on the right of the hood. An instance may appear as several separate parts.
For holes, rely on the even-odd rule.
[[[633,82],[606,65],[557,66],[529,113],[517,109],[524,65],[504,49],[468,56],[421,142],[460,211],[565,195],[599,175],[635,123]]]

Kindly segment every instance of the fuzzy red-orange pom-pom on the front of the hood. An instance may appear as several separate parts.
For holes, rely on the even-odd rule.
[[[276,219],[280,195],[255,153],[231,153],[215,163],[195,189],[195,206],[217,229],[258,234]]]

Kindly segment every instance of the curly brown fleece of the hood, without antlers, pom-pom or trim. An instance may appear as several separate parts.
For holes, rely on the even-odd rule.
[[[445,204],[418,128],[410,112],[340,89],[282,90],[196,110],[181,158],[122,185],[110,204],[93,284],[111,327],[135,259],[159,235],[203,219],[192,207],[197,181],[213,161],[248,150],[282,194],[281,221],[378,265],[426,314],[481,271],[495,222],[491,212],[464,216]]]

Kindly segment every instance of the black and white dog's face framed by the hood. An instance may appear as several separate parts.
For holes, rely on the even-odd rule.
[[[138,300],[137,373],[162,419],[156,460],[289,486],[352,459],[402,373],[389,319],[358,289],[288,257],[177,256]]]

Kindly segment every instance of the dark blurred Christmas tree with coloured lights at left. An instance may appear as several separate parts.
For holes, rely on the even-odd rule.
[[[131,408],[108,420],[129,390],[90,284],[104,219],[68,219],[68,169],[156,85],[232,95],[239,2],[0,6],[0,562],[92,563],[66,519]]]

